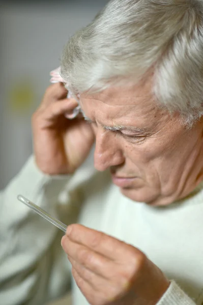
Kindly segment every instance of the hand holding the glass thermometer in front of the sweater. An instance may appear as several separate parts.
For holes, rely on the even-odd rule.
[[[91,305],[155,305],[169,287],[162,271],[140,250],[104,233],[71,225],[62,247]]]

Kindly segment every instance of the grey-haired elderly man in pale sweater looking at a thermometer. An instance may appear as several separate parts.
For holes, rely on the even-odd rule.
[[[70,39],[1,195],[2,304],[63,295],[71,269],[75,305],[202,304],[202,54],[201,0],[112,0]],[[19,193],[62,215],[64,251]]]

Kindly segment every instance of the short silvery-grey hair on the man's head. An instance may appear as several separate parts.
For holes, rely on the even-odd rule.
[[[203,0],[111,0],[70,38],[61,75],[75,95],[153,67],[153,94],[191,125],[203,115]]]

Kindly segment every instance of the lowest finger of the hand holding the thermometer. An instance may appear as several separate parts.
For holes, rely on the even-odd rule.
[[[100,294],[98,291],[96,292],[88,282],[79,276],[74,268],[72,268],[72,275],[76,285],[90,304],[103,305],[106,303],[105,295]]]

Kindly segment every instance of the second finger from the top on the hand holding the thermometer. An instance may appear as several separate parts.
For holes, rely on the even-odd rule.
[[[104,279],[109,279],[111,271],[117,267],[108,258],[83,245],[72,242],[67,236],[62,238],[62,247],[72,260]]]

